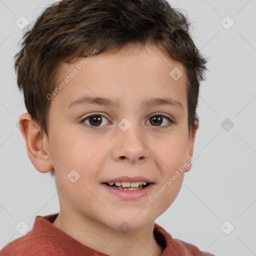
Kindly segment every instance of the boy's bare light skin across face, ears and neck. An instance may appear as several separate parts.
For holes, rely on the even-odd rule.
[[[62,64],[59,81],[80,60]],[[174,67],[183,72],[176,81],[169,75]],[[90,59],[51,99],[48,137],[28,113],[20,116],[31,162],[40,172],[55,171],[60,201],[55,227],[113,256],[162,253],[153,234],[154,219],[176,198],[184,172],[154,202],[148,198],[193,155],[198,123],[188,131],[185,83],[183,66],[157,46],[129,45],[115,54],[101,53]],[[119,99],[120,106],[84,104],[68,109],[81,95]],[[180,101],[183,111],[169,105],[140,107],[144,99],[166,96]],[[79,123],[95,112],[106,117],[101,116],[100,126],[92,129]],[[149,117],[159,112],[175,123],[167,126],[169,121],[164,116],[159,124],[150,123]],[[131,123],[125,132],[118,127],[123,118]],[[86,124],[92,126],[88,119]],[[72,169],[80,174],[74,183],[66,177]],[[101,182],[122,175],[144,176],[155,184],[148,195],[136,200],[105,192]],[[123,221],[130,225],[126,233],[118,228]]]

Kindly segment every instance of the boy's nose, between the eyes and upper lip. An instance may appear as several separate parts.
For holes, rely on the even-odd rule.
[[[139,128],[131,126],[128,130],[123,131],[118,127],[115,136],[115,147],[112,157],[116,161],[127,161],[142,163],[149,157],[149,148],[146,145],[146,134],[138,132]]]

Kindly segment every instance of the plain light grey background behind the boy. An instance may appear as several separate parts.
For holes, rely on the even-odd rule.
[[[21,220],[31,228],[36,215],[59,211],[53,179],[34,168],[16,126],[26,109],[13,70],[22,35],[15,21],[21,15],[34,21],[52,2],[0,0],[0,248],[21,236],[15,229]],[[173,204],[155,222],[172,237],[215,255],[256,255],[256,1],[169,2],[187,12],[192,37],[210,60],[200,89],[194,147],[202,154],[185,173]],[[229,29],[221,24],[226,15],[234,21]],[[223,22],[231,24],[228,18]],[[234,124],[228,131],[221,127],[226,118]],[[226,220],[234,226],[229,234],[221,229]]]

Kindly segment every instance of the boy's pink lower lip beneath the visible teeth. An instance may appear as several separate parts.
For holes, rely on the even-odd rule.
[[[103,187],[107,189],[112,194],[115,194],[116,196],[120,197],[121,199],[125,200],[134,200],[139,199],[145,195],[147,195],[150,190],[152,189],[154,183],[150,183],[149,185],[145,186],[144,188],[138,189],[138,190],[120,190],[119,188],[114,188],[112,186],[108,186],[104,183],[101,183]]]

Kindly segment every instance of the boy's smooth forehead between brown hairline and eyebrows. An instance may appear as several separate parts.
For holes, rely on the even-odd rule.
[[[184,67],[154,44],[127,45],[114,53],[91,54],[70,64],[63,63],[59,70],[62,88],[54,101],[66,108],[82,95],[139,104],[141,99],[168,96],[181,101],[185,108]]]

